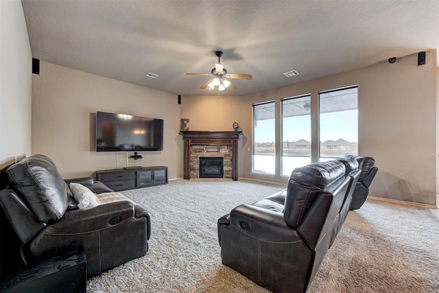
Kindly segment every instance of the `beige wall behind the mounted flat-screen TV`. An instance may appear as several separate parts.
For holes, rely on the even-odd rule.
[[[64,178],[126,167],[125,152],[95,152],[97,111],[164,119],[163,152],[140,152],[143,159],[129,165],[165,165],[169,179],[181,177],[176,95],[48,62],[40,62],[33,80],[32,153],[53,159]]]

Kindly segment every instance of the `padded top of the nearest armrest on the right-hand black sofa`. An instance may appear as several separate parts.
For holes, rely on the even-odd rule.
[[[287,226],[283,213],[241,204],[230,211],[230,225],[241,233],[267,242],[300,242],[296,229]]]

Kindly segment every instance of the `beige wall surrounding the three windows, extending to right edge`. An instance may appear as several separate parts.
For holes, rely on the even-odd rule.
[[[426,60],[426,65],[418,66],[417,54],[414,54],[392,65],[383,61],[243,97],[244,134],[252,137],[251,105],[254,103],[274,99],[279,118],[281,98],[311,93],[313,115],[318,110],[318,91],[358,84],[359,154],[373,156],[379,167],[370,195],[436,204],[436,51],[427,51]],[[317,126],[317,115],[313,115],[312,128]],[[276,124],[278,149],[280,132],[280,124]],[[314,135],[313,140],[317,139]],[[242,152],[241,176],[286,182],[278,175],[251,174],[251,153],[246,152],[247,148],[251,148],[251,139]],[[316,158],[318,145],[313,144],[311,148]],[[280,174],[279,165],[276,174]]]

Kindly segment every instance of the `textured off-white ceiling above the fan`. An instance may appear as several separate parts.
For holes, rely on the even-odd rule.
[[[185,75],[210,73],[217,50],[229,73],[253,75],[222,95],[439,51],[439,0],[22,3],[34,58],[176,95],[217,94],[199,89],[209,77]]]

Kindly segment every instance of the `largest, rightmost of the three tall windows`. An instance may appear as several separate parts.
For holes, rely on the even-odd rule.
[[[358,86],[319,92],[320,158],[358,154]]]

